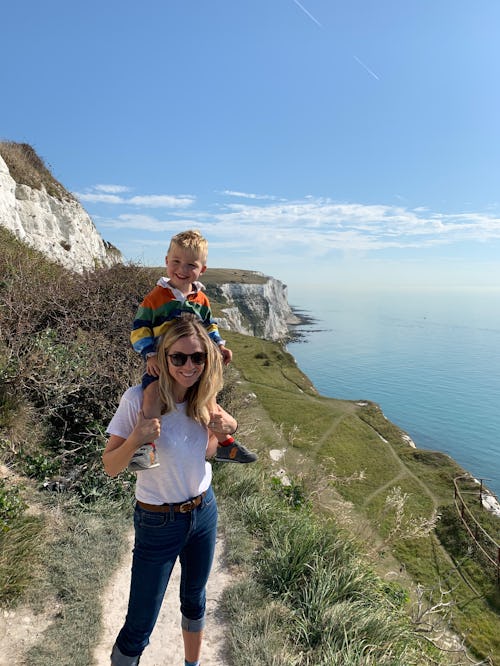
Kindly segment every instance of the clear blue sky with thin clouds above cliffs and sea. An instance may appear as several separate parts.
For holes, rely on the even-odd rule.
[[[127,261],[500,290],[498,0],[19,0],[0,138]]]

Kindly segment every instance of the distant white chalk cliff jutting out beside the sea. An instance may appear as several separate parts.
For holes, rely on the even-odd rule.
[[[256,273],[262,276],[261,273]],[[286,340],[289,326],[300,323],[287,300],[287,288],[279,280],[266,276],[262,284],[236,282],[220,285],[228,303],[219,326],[266,340]]]

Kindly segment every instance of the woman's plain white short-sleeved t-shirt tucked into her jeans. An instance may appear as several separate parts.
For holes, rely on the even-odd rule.
[[[127,439],[142,406],[142,388],[127,389],[107,433]],[[135,496],[148,504],[184,502],[207,490],[212,467],[205,460],[208,430],[186,416],[186,403],[161,417],[161,434],[155,441],[159,467],[137,473]]]

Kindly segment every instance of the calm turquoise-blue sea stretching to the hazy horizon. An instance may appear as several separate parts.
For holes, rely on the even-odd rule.
[[[290,289],[287,345],[328,397],[371,400],[500,497],[500,292]]]

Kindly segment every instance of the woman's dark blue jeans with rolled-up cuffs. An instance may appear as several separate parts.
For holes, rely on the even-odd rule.
[[[156,513],[136,505],[130,598],[116,645],[123,655],[142,654],[160,612],[177,557],[181,564],[182,627],[201,631],[205,623],[205,586],[217,535],[217,503],[210,487],[189,513]]]

